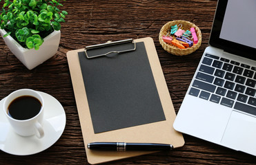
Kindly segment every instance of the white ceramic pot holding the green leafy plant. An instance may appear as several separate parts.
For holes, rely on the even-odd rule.
[[[6,34],[6,30],[0,29],[1,36]],[[28,69],[33,69],[54,56],[59,47],[59,41],[61,39],[61,31],[54,31],[46,38],[43,39],[43,44],[40,46],[39,50],[34,48],[31,50],[25,49],[17,41],[15,41],[12,36],[3,37],[6,45],[9,47],[10,51],[25,65]]]

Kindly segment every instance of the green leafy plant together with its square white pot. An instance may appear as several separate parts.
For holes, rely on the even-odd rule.
[[[5,0],[3,3],[1,36],[28,69],[37,67],[58,50],[60,23],[65,22],[68,14],[59,10],[59,6],[63,6],[60,0]]]

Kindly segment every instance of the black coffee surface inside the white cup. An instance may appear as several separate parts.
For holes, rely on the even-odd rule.
[[[7,113],[14,119],[27,120],[36,116],[41,106],[41,102],[33,96],[20,96],[10,102]]]

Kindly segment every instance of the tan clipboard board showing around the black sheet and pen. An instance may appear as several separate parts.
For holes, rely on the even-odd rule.
[[[83,142],[86,148],[86,155],[90,164],[99,164],[103,162],[110,162],[117,159],[124,159],[126,157],[135,157],[148,153],[155,153],[157,151],[90,151],[87,144],[90,142],[146,142],[146,143],[161,143],[172,144],[174,148],[184,145],[184,138],[181,133],[173,129],[173,122],[176,114],[173,107],[173,102],[170,98],[168,87],[164,74],[161,70],[157,51],[155,45],[150,37],[144,39],[136,39],[135,43],[144,43],[152,76],[155,81],[161,107],[164,112],[165,119],[157,122],[150,122],[148,124],[139,124],[135,126],[128,126],[121,129],[114,129],[112,131],[104,131],[95,133],[92,118],[90,114],[90,106],[86,87],[83,81],[82,69],[79,63],[79,52],[85,52],[85,49],[72,50],[67,53],[68,65],[70,69],[70,76],[72,79],[72,86],[75,93],[75,100],[77,103],[77,111],[79,113],[79,120],[83,134]],[[111,43],[110,43],[111,45]],[[135,50],[136,51],[136,50]],[[116,56],[123,56],[117,53]],[[129,51],[132,53],[132,49]],[[106,57],[97,57],[106,58]],[[93,59],[90,59],[93,60]],[[108,58],[106,58],[106,61]],[[144,63],[141,61],[140,63]]]

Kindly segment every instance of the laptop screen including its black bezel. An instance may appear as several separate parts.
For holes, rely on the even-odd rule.
[[[218,2],[210,45],[256,60],[256,1]]]

